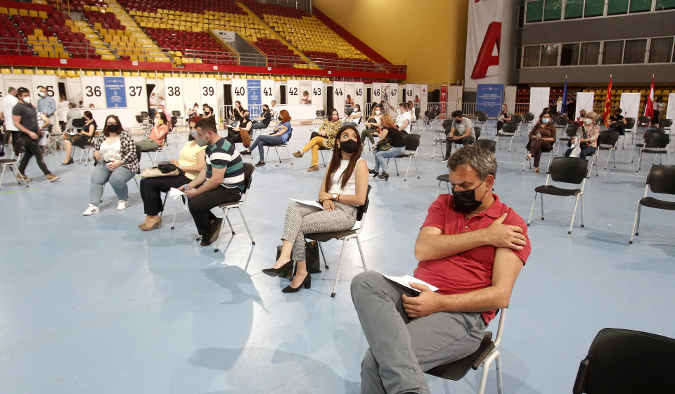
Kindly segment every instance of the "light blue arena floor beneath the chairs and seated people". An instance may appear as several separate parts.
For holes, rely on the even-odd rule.
[[[309,139],[309,128],[295,128],[291,152]],[[435,179],[446,173],[438,155],[430,158],[433,134],[422,134],[420,179],[411,165],[404,182],[393,163],[389,182],[371,179],[361,234],[368,269],[406,274],[416,267],[418,229],[435,198]],[[170,137],[169,158],[185,138],[176,148]],[[508,153],[506,145],[496,154],[495,193],[527,220],[548,155],[540,174],[522,172],[525,136],[514,144],[518,151]],[[636,173],[631,153],[626,145],[616,170],[610,163],[599,177],[593,171],[586,227],[579,227],[577,212],[572,235],[573,198],[547,196],[544,222],[537,202],[532,255],[515,285],[501,344],[507,393],[570,393],[603,327],[675,337],[674,214],[643,209],[640,236],[629,246],[652,163],[647,156]],[[323,166],[308,173],[305,155],[275,167],[272,153],[255,170],[243,208],[256,245],[232,212],[236,234],[224,234],[214,253],[194,241],[184,208],[169,229],[174,202],[162,229],[140,231],[143,208],[133,182],[129,209],[115,210],[106,186],[101,213],[83,217],[91,164],[62,167],[63,155],[46,159],[57,182],[47,183],[33,161],[30,189],[16,186],[9,173],[0,190],[0,393],[359,393],[368,344],[349,296],[349,281],[363,270],[356,243],[345,250],[336,298],[330,298],[340,252],[335,241],[325,248],[330,269],[314,274],[309,290],[283,294],[288,281],[260,272],[274,263],[288,198],[315,198]],[[364,158],[372,166],[372,153]],[[149,164],[144,155],[142,167]],[[433,393],[473,393],[479,376],[427,379]],[[494,367],[487,392],[496,392]]]

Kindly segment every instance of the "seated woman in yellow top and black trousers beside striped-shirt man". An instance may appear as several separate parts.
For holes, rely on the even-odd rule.
[[[190,120],[191,131],[188,142],[178,153],[178,160],[169,160],[183,174],[173,177],[141,179],[141,198],[143,199],[143,212],[146,213],[146,220],[139,224],[139,229],[149,231],[162,227],[162,218],[159,215],[164,207],[162,207],[160,193],[167,193],[172,187],[178,189],[180,186],[192,182],[204,167],[206,145],[200,145],[195,141],[197,131],[194,130],[194,125],[199,120],[201,120],[199,116]]]

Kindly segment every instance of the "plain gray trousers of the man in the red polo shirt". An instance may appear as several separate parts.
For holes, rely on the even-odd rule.
[[[410,319],[401,295],[414,295],[378,272],[352,279],[352,300],[371,346],[361,363],[361,393],[429,394],[424,372],[470,355],[486,324],[480,313],[437,312]]]

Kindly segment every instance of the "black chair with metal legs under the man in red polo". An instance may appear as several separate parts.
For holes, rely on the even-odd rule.
[[[482,366],[483,371],[480,374],[478,394],[483,394],[487,383],[487,374],[490,371],[492,362],[496,360],[497,393],[502,394],[504,392],[504,387],[503,379],[501,377],[501,353],[499,352],[498,347],[499,343],[501,343],[505,322],[506,308],[499,312],[499,325],[497,326],[497,334],[494,341],[492,340],[491,331],[485,331],[483,333],[483,339],[475,352],[461,360],[434,367],[426,371],[426,373],[442,379],[458,381],[466,375],[469,369],[476,370]]]

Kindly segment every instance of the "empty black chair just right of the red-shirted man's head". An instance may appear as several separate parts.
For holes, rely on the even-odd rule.
[[[570,229],[567,230],[567,234],[572,234],[572,225],[574,224],[574,217],[577,215],[579,198],[581,198],[581,227],[584,227],[584,186],[586,186],[588,167],[589,162],[586,159],[565,157],[553,158],[553,160],[551,160],[551,165],[548,167],[546,184],[534,188],[534,200],[532,200],[532,208],[529,210],[527,225],[529,226],[529,224],[532,223],[532,212],[534,212],[534,203],[536,202],[537,194],[541,194],[541,220],[544,220],[544,194],[548,194],[561,197],[574,196],[577,199],[574,203]],[[581,184],[581,189],[562,189],[548,184],[551,179],[553,182]]]

